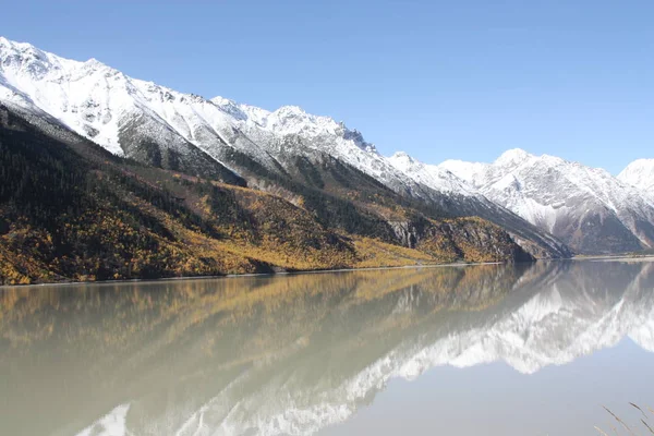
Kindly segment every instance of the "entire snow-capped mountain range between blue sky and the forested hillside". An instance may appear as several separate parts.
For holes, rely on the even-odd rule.
[[[2,37],[0,102],[49,135],[70,131],[130,161],[267,192],[318,217],[306,190],[353,202],[348,209],[386,228],[366,235],[388,233],[387,242],[410,249],[435,234],[414,211],[427,220],[481,217],[535,257],[654,246],[653,160],[614,178],[522,150],[494,164],[384,157],[359,131],[298,107],[270,112],[209,100]],[[342,228],[341,215],[324,216],[322,225]]]

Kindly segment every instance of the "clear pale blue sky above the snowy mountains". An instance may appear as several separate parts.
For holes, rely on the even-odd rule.
[[[390,155],[654,157],[652,0],[5,0],[0,34],[344,121]]]

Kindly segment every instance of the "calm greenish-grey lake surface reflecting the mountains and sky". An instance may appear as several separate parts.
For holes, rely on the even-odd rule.
[[[652,262],[4,288],[0,434],[614,434],[653,352]]]

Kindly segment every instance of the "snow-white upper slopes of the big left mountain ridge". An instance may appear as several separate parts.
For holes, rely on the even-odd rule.
[[[242,156],[281,172],[298,155],[327,154],[398,192],[420,189],[363,136],[298,107],[274,112],[207,100],[126,76],[92,59],[78,62],[0,38],[0,100],[50,114],[108,150],[177,169],[208,155],[245,171]],[[205,156],[203,156],[204,158]]]

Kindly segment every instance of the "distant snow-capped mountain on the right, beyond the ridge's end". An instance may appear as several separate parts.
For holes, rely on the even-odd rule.
[[[439,168],[579,253],[654,245],[654,202],[603,169],[521,149],[493,164],[448,160]]]

